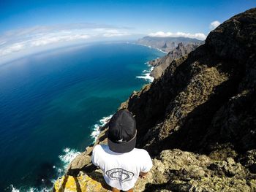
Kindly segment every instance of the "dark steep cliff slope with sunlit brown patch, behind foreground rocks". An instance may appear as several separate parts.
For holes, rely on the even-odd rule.
[[[136,116],[138,147],[211,153],[227,143],[243,152],[256,146],[255,12],[225,21],[121,104]]]

